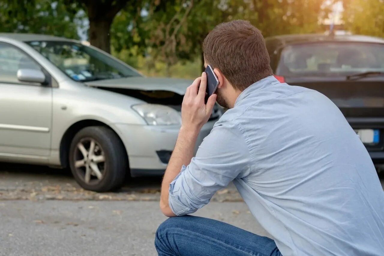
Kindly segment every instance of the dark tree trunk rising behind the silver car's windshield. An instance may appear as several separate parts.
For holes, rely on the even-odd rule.
[[[111,29],[112,20],[89,19],[89,43],[104,52],[111,52],[111,37],[109,30]]]

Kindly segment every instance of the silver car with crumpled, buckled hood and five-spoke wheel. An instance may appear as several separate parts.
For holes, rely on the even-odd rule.
[[[0,161],[69,166],[99,192],[161,175],[190,83],[146,78],[76,40],[0,33]],[[196,150],[220,115],[215,106]]]

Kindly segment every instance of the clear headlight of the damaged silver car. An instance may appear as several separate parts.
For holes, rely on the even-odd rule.
[[[139,104],[132,108],[144,118],[148,125],[180,125],[181,115],[169,106]]]

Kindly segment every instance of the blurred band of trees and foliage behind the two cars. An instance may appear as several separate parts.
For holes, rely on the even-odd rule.
[[[1,0],[0,32],[89,42],[147,76],[195,78],[201,43],[221,22],[249,20],[264,37],[384,35],[382,0]]]

